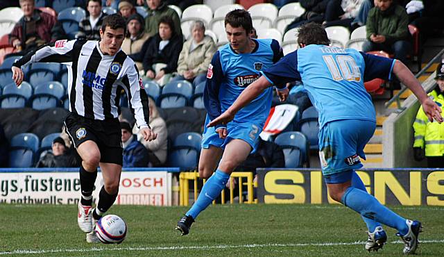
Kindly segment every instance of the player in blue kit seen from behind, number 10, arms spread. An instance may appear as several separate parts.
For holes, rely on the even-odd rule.
[[[364,146],[375,131],[375,110],[364,81],[390,80],[392,74],[418,97],[430,121],[443,122],[441,108],[427,97],[420,83],[399,60],[372,56],[354,49],[329,47],[327,33],[318,24],[301,26],[300,49],[265,69],[233,105],[208,126],[228,124],[239,110],[275,84],[302,81],[319,113],[319,157],[330,197],[361,215],[368,226],[366,249],[377,250],[386,242],[381,224],[398,230],[404,254],[418,247],[421,223],[404,219],[368,194],[355,173],[365,158]]]

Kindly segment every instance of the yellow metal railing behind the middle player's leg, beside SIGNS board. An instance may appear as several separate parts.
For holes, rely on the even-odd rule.
[[[194,201],[198,197],[198,172],[180,172],[179,175],[179,205],[188,206],[189,205],[189,184],[190,181],[194,185]],[[225,204],[225,190],[230,190],[230,204],[234,204],[234,179],[237,179],[237,185],[239,190],[239,204],[256,204],[257,199],[253,197],[253,188],[257,188],[257,182],[254,181],[253,172],[233,172],[230,178],[230,188],[225,188],[221,193],[221,203]],[[244,180],[245,179],[245,180]],[[203,183],[205,184],[205,179]],[[247,197],[244,201],[243,196],[243,185],[247,186]],[[216,204],[213,201],[213,204]]]

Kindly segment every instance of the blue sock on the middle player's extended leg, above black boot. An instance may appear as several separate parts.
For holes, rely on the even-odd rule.
[[[191,215],[193,219],[196,219],[201,211],[205,210],[216,197],[219,197],[219,194],[221,194],[223,188],[225,188],[228,179],[230,179],[229,174],[217,169],[213,176],[207,180],[207,183],[203,185],[196,202],[185,215]]]

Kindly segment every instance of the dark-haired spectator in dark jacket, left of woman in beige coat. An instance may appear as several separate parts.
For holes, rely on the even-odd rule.
[[[171,17],[163,16],[158,26],[159,33],[145,43],[146,51],[142,49],[142,53],[145,53],[143,65],[146,77],[164,85],[168,83],[171,73],[177,70],[182,35],[176,34]]]

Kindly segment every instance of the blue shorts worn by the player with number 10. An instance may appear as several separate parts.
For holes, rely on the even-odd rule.
[[[375,121],[365,119],[339,119],[321,128],[319,159],[326,183],[348,181],[351,179],[349,171],[363,166],[359,157],[366,159],[364,147],[375,128]]]

